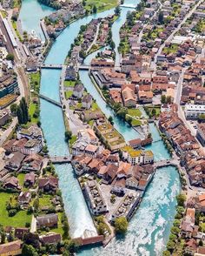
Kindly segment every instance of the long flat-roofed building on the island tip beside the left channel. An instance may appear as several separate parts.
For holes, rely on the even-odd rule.
[[[89,209],[93,215],[107,212],[108,208],[102,197],[102,192],[96,180],[88,181],[84,184],[84,193],[88,199]]]

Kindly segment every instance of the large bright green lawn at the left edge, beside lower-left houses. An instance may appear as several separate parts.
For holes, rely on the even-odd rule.
[[[17,212],[17,214],[14,217],[8,216],[8,212],[6,211],[6,202],[10,201],[10,198],[14,199],[15,196],[17,195],[6,192],[0,193],[0,224],[3,226],[24,227],[26,222],[31,221],[31,215],[27,215],[26,211]]]

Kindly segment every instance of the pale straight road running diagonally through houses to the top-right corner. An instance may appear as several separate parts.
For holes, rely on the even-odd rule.
[[[159,48],[159,51],[155,54],[155,59],[154,61],[151,63],[150,65],[150,69],[153,70],[153,71],[156,71],[156,59],[159,55],[161,55],[162,53],[162,49],[164,48],[165,44],[170,42],[172,37],[174,37],[175,33],[178,32],[181,27],[182,27],[182,24],[184,24],[187,19],[189,17],[192,16],[192,14],[195,12],[196,8],[201,4],[203,3],[204,0],[200,0],[198,3],[195,4],[195,6],[192,8],[192,10],[189,10],[187,15],[182,19],[182,22],[177,26],[177,28],[175,28],[175,30],[172,31],[172,33],[170,34],[170,36],[164,41],[164,43],[160,46]]]

